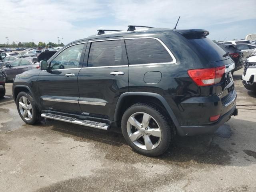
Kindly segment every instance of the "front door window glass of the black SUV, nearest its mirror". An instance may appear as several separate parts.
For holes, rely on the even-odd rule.
[[[66,48],[51,61],[52,69],[78,68],[84,48],[83,44],[73,45]]]

